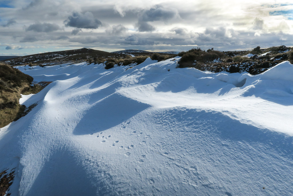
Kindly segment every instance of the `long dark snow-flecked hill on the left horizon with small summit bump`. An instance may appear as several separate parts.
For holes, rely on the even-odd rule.
[[[54,63],[60,62],[69,63],[69,62],[78,62],[85,61],[88,58],[107,58],[113,56],[124,56],[121,54],[109,53],[100,50],[94,50],[90,48],[81,48],[76,50],[65,50],[57,52],[47,52],[40,54],[32,54],[27,56],[16,57],[12,59],[6,59],[2,62],[10,65],[22,65],[22,64],[44,64],[44,63]]]

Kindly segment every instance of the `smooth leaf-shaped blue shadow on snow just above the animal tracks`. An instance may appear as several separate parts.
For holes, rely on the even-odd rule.
[[[114,93],[85,111],[73,134],[85,135],[110,129],[148,107],[148,104]]]

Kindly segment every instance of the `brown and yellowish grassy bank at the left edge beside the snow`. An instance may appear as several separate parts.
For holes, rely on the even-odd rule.
[[[0,65],[0,128],[18,120],[25,113],[25,106],[19,104],[20,94],[35,94],[44,87],[31,86],[33,78],[6,64]]]

